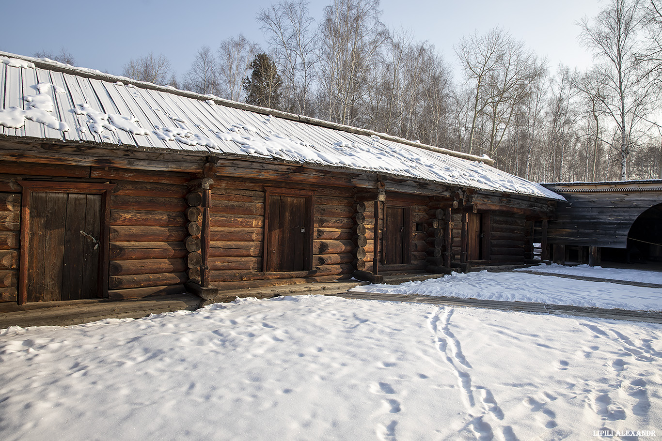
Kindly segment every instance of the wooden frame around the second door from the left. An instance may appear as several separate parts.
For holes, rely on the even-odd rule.
[[[305,271],[312,270],[312,238],[313,238],[313,225],[314,225],[314,190],[300,190],[299,188],[283,188],[283,187],[264,187],[264,225],[263,225],[263,250],[262,250],[262,271],[267,272],[267,268],[270,268],[271,264],[271,253],[269,250],[269,202],[271,196],[296,196],[299,198],[305,198],[306,200],[306,231],[307,231],[307,241],[306,249],[304,250],[303,256],[303,267]]]

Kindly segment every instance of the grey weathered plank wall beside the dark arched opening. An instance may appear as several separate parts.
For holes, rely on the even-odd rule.
[[[550,244],[626,248],[632,223],[645,210],[662,202],[661,182],[627,184],[548,184],[564,196],[549,220]],[[538,231],[536,231],[538,232]],[[540,235],[536,235],[540,241]]]

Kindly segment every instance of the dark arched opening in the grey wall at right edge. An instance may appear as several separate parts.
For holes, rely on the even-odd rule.
[[[628,233],[628,261],[662,262],[662,204],[657,204],[632,223]]]

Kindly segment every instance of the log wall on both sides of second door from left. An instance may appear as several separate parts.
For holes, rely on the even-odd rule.
[[[282,186],[279,182],[214,179],[209,251],[211,286],[226,289],[231,286],[227,282],[246,280],[350,278],[356,248],[355,202],[350,190],[335,187],[315,188],[312,270],[263,271],[265,185]]]

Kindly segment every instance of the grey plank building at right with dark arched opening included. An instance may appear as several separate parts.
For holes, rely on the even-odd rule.
[[[662,260],[662,180],[544,186],[567,200],[547,228],[554,261],[598,264],[603,249],[623,250],[627,261]]]

